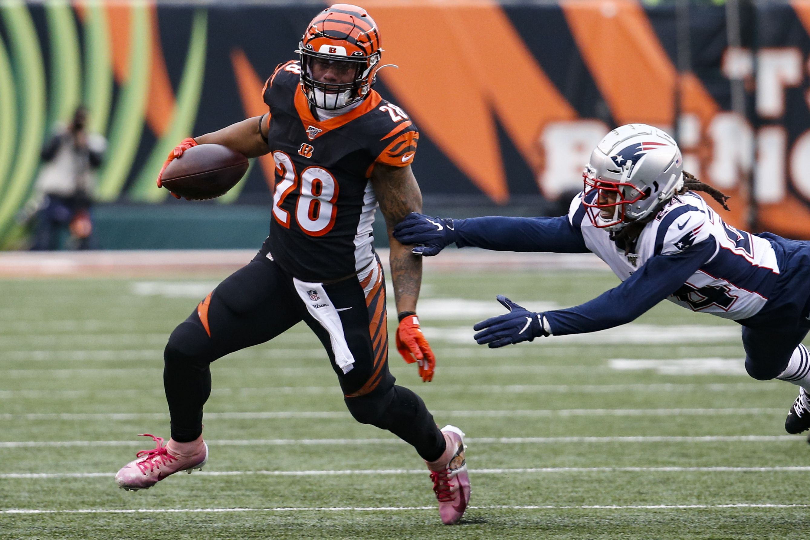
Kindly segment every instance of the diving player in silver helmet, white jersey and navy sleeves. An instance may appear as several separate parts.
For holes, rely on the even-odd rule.
[[[532,313],[497,300],[509,313],[475,325],[489,347],[624,325],[667,299],[742,325],[745,368],[762,381],[799,385],[785,429],[810,427],[810,242],[723,222],[696,191],[727,197],[683,171],[676,142],[650,125],[622,125],[590,155],[585,189],[558,218],[429,218],[411,214],[394,228],[413,253],[446,245],[500,251],[593,252],[622,283],[568,309]]]

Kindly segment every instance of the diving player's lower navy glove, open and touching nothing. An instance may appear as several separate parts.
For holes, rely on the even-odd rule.
[[[494,349],[512,343],[531,342],[534,338],[551,335],[544,328],[543,313],[529,311],[503,295],[496,298],[509,309],[509,313],[481,321],[472,327],[472,330],[481,330],[475,334],[475,341],[479,345],[489,343],[489,348]]]

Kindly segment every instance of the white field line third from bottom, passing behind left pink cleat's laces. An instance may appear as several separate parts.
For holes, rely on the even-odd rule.
[[[467,437],[471,444],[599,444],[599,443],[714,443],[796,442],[799,435],[612,436],[612,437]],[[234,439],[206,440],[209,446],[365,446],[405,444],[401,439]],[[143,440],[24,440],[0,442],[0,449],[70,448],[87,446],[143,446]]]

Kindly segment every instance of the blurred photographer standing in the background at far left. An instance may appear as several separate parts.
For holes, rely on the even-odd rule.
[[[33,199],[31,249],[59,249],[65,228],[70,232],[69,247],[91,247],[92,193],[106,147],[104,137],[87,132],[83,106],[76,108],[70,125],[58,126],[45,142]]]

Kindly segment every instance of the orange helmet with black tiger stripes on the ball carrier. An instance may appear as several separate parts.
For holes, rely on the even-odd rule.
[[[369,95],[380,68],[380,32],[362,7],[335,4],[315,15],[301,37],[298,53],[301,88],[309,103],[343,108]],[[316,66],[320,71],[333,70],[340,82],[315,79]]]

